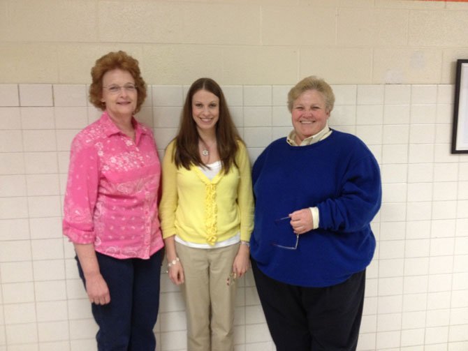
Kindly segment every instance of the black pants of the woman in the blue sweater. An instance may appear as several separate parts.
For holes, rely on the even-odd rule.
[[[266,276],[255,260],[251,264],[277,351],[356,350],[365,271],[330,287],[300,287]]]

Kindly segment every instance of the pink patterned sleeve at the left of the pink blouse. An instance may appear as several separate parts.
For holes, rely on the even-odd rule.
[[[71,144],[64,200],[63,232],[76,244],[94,243],[94,208],[98,195],[99,160],[96,149],[77,136]]]

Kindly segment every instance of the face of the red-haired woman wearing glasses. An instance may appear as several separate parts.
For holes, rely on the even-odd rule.
[[[103,75],[103,96],[101,101],[105,103],[105,110],[114,119],[128,119],[136,110],[138,92],[135,80],[127,70],[108,70]],[[117,92],[110,89],[119,87]],[[127,89],[126,89],[127,88]],[[130,89],[129,89],[130,88]]]

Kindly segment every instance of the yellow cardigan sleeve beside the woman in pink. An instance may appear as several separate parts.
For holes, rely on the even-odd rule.
[[[159,204],[159,216],[161,218],[161,230],[163,239],[177,234],[175,228],[175,211],[179,197],[177,195],[177,167],[173,161],[175,141],[171,142],[163,157],[162,192]]]

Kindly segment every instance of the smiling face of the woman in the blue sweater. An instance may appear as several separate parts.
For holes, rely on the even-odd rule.
[[[295,142],[302,140],[325,128],[330,111],[326,110],[325,97],[319,91],[306,90],[293,102],[291,111]]]

